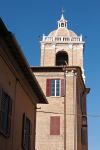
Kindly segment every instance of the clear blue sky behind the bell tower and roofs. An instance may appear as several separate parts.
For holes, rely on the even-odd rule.
[[[68,28],[85,40],[89,150],[100,150],[100,0],[0,0],[0,16],[31,66],[39,66],[39,41],[57,28],[62,8]]]

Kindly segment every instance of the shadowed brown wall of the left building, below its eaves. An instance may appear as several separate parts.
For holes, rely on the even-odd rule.
[[[20,81],[16,80],[13,70],[0,56],[0,87],[12,98],[11,132],[8,138],[0,134],[0,150],[22,150],[23,114],[32,122],[31,149],[35,149],[35,104],[26,94]]]

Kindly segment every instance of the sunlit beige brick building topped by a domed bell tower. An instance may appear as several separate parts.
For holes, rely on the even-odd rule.
[[[36,150],[88,150],[82,35],[68,29],[62,13],[40,43],[41,66],[31,69],[49,104],[37,106]]]

